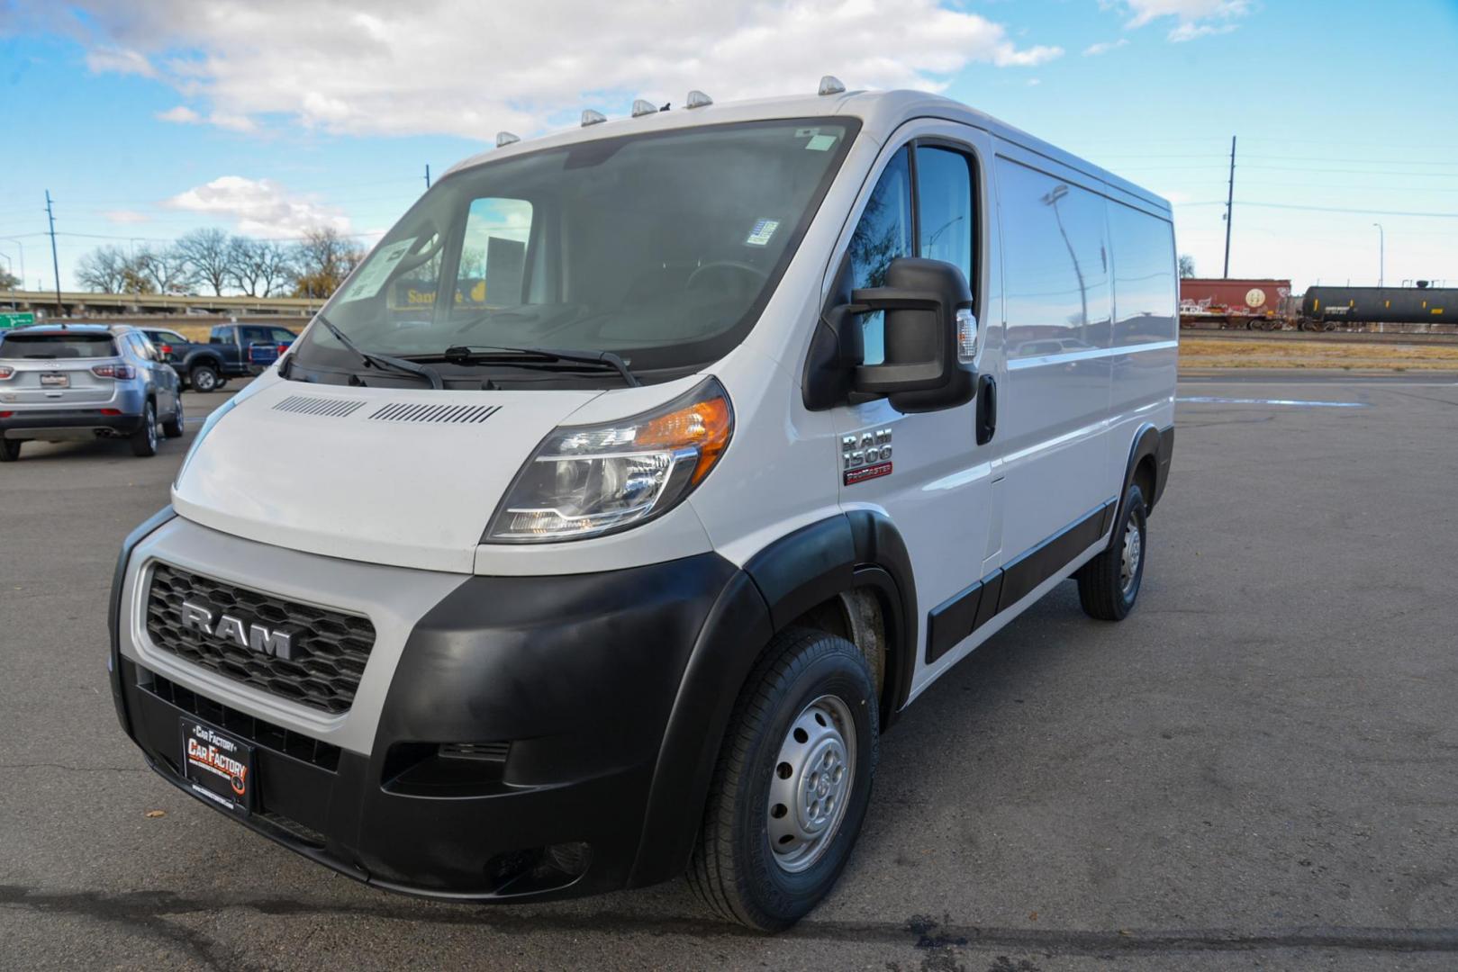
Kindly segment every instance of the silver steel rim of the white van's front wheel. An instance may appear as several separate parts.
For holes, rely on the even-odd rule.
[[[835,695],[800,710],[770,771],[765,822],[780,870],[796,874],[819,861],[840,832],[856,783],[856,723]]]

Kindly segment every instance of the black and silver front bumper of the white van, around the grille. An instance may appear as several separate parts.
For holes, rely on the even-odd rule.
[[[337,871],[410,893],[550,898],[650,883],[682,867],[697,807],[677,806],[672,832],[644,845],[647,822],[663,816],[650,804],[681,804],[674,794],[706,777],[703,752],[717,745],[665,742],[674,720],[713,721],[710,707],[685,713],[681,681],[710,615],[764,619],[752,584],[719,555],[602,574],[449,581],[369,567],[397,584],[426,584],[433,603],[399,625],[383,616],[398,603],[385,605],[350,713],[311,723],[284,702],[265,708],[255,692],[136,643],[146,638],[134,612],[147,563],[195,560],[208,542],[220,554],[262,548],[185,520],[163,522],[156,536],[163,542],[139,539],[139,552],[122,554],[111,667],[122,726],[169,783],[185,785],[184,717],[243,736],[257,748],[258,806],[235,819]],[[262,552],[313,577],[364,567]],[[219,561],[210,573],[229,568]],[[300,577],[276,577],[273,593]],[[245,580],[255,583],[238,583]],[[404,632],[395,651],[381,643],[392,631]],[[488,758],[448,758],[443,743],[469,743]],[[666,758],[669,749],[691,755]]]

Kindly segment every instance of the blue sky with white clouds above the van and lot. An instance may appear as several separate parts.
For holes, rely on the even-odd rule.
[[[1455,50],[1458,0],[0,0],[0,265],[54,287],[47,191],[64,289],[200,226],[370,245],[500,130],[828,73],[1159,192],[1200,275],[1236,136],[1232,277],[1458,286]]]

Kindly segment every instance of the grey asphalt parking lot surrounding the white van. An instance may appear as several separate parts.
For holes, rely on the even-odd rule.
[[[388,895],[153,777],[106,592],[187,442],[29,444],[0,468],[0,966],[1452,969],[1458,379],[1180,393],[1136,614],[1063,584],[923,695],[838,889],[776,938],[681,883]]]

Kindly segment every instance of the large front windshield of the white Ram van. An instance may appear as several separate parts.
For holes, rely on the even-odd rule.
[[[421,197],[324,315],[394,357],[510,347],[612,351],[637,373],[707,364],[754,326],[854,130],[712,125],[465,169]],[[359,369],[324,328],[295,363]]]

